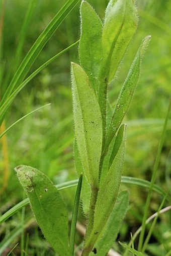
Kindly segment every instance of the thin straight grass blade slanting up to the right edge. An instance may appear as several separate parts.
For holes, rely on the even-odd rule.
[[[170,108],[171,108],[171,101],[169,103],[167,114],[166,114],[166,117],[165,117],[163,131],[162,131],[161,139],[160,139],[160,142],[159,142],[159,145],[158,145],[157,155],[156,155],[156,159],[155,159],[155,163],[154,163],[154,167],[153,167],[153,172],[152,172],[149,192],[148,192],[147,199],[146,199],[146,202],[145,202],[144,215],[143,215],[143,219],[142,219],[142,230],[141,230],[141,233],[140,233],[139,243],[138,243],[138,250],[139,251],[141,251],[142,246],[143,246],[143,239],[144,239],[144,233],[145,233],[145,221],[146,221],[147,214],[148,214],[148,207],[150,205],[152,189],[153,189],[154,182],[155,182],[156,175],[157,175],[157,168],[158,168],[158,164],[159,164],[159,160],[160,160],[160,154],[161,154],[161,149],[162,149],[162,145],[163,145],[163,141],[164,141],[164,137],[165,137],[166,126],[167,126],[167,121],[168,121],[168,117],[169,117]]]

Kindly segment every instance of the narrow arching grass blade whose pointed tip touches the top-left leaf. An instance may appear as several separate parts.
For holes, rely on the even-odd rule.
[[[9,98],[7,98],[4,102],[4,104],[0,107],[0,123],[1,120],[3,119],[4,114],[6,113],[7,109],[10,107],[10,105],[12,104],[12,102],[14,101],[14,99],[16,98],[17,94],[26,86],[26,84],[33,79],[44,67],[46,67],[47,65],[49,65],[52,61],[54,61],[56,58],[58,58],[59,56],[61,56],[63,53],[67,52],[68,50],[70,50],[72,47],[74,47],[75,45],[77,45],[79,42],[76,41],[75,43],[73,43],[72,45],[68,46],[67,48],[65,48],[64,50],[62,50],[61,52],[57,53],[55,56],[53,56],[52,58],[50,58],[48,61],[46,61],[43,65],[41,65],[39,68],[37,68],[30,76],[27,77],[26,80],[24,80],[20,86],[9,96]]]

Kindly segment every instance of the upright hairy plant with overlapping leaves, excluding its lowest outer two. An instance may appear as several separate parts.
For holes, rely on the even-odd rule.
[[[83,209],[88,214],[82,255],[89,255],[97,239],[103,235],[103,227],[108,222],[118,196],[126,136],[125,126],[120,127],[120,125],[130,106],[140,74],[141,59],[150,37],[144,39],[137,52],[108,128],[106,127],[107,86],[113,79],[136,30],[135,6],[132,1],[118,0],[115,3],[111,1],[103,26],[87,2],[82,2],[80,12],[79,58],[81,66],[71,64],[71,78],[75,166],[78,174],[80,172],[84,174],[85,182],[81,199]],[[88,26],[89,23],[92,23],[91,29]],[[109,150],[115,133],[117,136]],[[109,158],[108,164],[104,164],[105,156]],[[88,198],[85,197],[86,189],[89,190]]]

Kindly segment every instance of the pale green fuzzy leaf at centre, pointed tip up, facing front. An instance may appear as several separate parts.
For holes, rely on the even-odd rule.
[[[102,117],[89,77],[72,63],[72,99],[75,138],[89,184],[98,188],[102,151]]]

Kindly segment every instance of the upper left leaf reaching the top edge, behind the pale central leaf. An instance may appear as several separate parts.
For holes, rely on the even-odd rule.
[[[85,1],[81,3],[80,13],[80,64],[88,74],[92,87],[96,91],[102,60],[102,23],[94,9]]]

